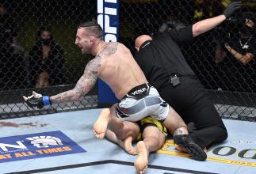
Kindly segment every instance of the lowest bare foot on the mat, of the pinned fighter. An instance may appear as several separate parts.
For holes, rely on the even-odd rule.
[[[139,141],[137,143],[138,157],[134,162],[134,166],[136,168],[136,172],[139,174],[143,174],[146,172],[148,165],[148,151],[145,143],[143,141]]]

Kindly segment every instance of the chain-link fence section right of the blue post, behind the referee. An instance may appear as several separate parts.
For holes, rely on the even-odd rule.
[[[232,1],[121,1],[120,42],[133,52],[136,36],[158,35],[192,25],[224,12]],[[242,9],[209,32],[182,47],[185,59],[224,118],[255,121],[256,116],[256,1],[242,1]],[[250,28],[248,28],[250,26]],[[248,29],[248,31],[246,31]],[[245,32],[245,33],[243,33]],[[239,53],[232,54],[231,48]],[[247,48],[246,48],[247,47]],[[241,56],[246,55],[246,56]]]

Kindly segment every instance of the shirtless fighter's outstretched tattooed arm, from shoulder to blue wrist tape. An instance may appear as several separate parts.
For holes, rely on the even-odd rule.
[[[74,89],[51,96],[52,104],[67,103],[82,100],[83,96],[90,92],[97,81],[101,68],[101,56],[97,55],[91,60],[84,70],[82,77],[78,80]]]

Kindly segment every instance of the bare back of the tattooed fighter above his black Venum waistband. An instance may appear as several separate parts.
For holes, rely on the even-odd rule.
[[[98,77],[113,89],[118,99],[132,88],[147,83],[132,53],[122,43],[105,43],[105,47],[98,52],[95,59],[101,60]]]

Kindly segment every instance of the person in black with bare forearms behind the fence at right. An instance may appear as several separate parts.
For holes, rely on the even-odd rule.
[[[256,54],[256,38],[255,38],[255,14],[243,13],[242,19],[234,19],[231,21],[235,28],[227,33],[227,42],[221,47],[221,40],[216,45],[216,62],[223,61],[226,53],[235,57],[235,59],[246,65]],[[226,49],[226,50],[224,50]]]

